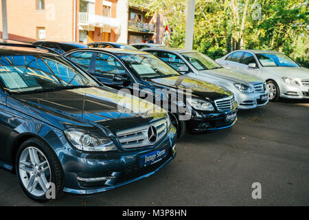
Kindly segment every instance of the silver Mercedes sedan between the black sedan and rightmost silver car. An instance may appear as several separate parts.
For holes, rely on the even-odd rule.
[[[264,80],[225,69],[205,54],[170,47],[152,47],[141,50],[158,56],[185,76],[229,89],[233,92],[239,109],[253,109],[268,102],[268,89]]]

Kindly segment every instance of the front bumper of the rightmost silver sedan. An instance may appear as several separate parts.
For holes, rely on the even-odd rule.
[[[279,85],[281,98],[295,98],[295,99],[307,99],[309,98],[309,87],[304,85],[300,87],[293,87],[282,83]]]

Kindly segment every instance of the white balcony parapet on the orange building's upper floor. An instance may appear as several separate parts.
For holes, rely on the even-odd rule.
[[[119,20],[88,12],[79,13],[79,24],[97,28],[119,28]]]

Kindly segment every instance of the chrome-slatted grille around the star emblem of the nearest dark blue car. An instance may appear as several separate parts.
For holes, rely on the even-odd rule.
[[[155,126],[157,129],[157,140],[150,142],[148,140],[148,129],[150,126]],[[117,132],[120,143],[123,148],[139,148],[144,146],[151,146],[165,137],[167,133],[167,121],[165,118],[144,124],[131,129],[125,129]]]

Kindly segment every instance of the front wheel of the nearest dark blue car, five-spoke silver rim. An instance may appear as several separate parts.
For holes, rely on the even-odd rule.
[[[15,169],[21,188],[31,199],[47,202],[62,195],[62,166],[52,148],[38,137],[30,138],[21,144],[16,153]],[[52,190],[49,183],[54,183],[55,193],[49,193],[47,198],[47,191]]]

